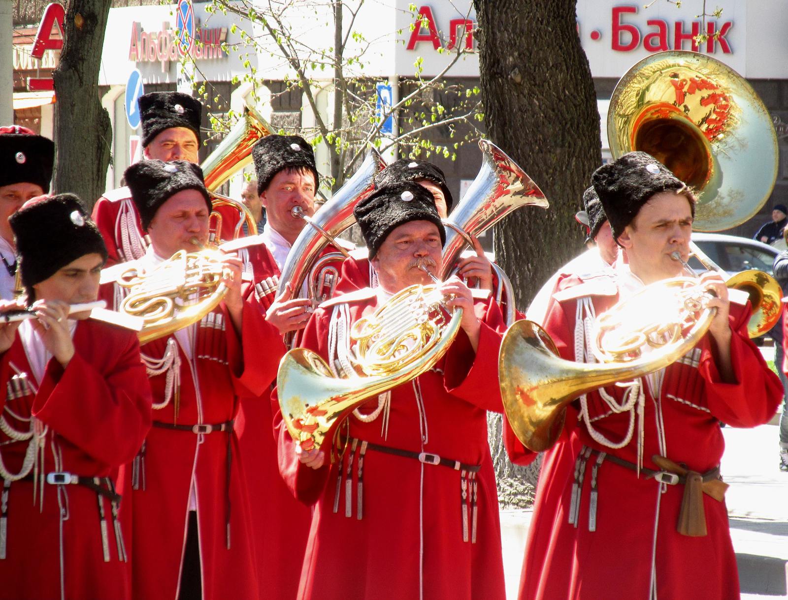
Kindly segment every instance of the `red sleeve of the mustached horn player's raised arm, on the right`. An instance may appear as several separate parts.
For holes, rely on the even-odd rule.
[[[504,412],[498,385],[498,353],[504,317],[497,302],[476,302],[482,313],[479,345],[474,353],[470,340],[460,331],[444,361],[444,387],[449,394],[463,398],[480,409]]]

